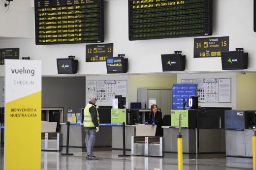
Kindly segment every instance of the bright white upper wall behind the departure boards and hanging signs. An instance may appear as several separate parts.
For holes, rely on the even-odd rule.
[[[11,2],[13,7],[18,4],[17,1],[19,0]],[[162,73],[160,55],[174,51],[182,51],[187,56],[185,72],[222,71],[220,57],[193,58],[194,37],[129,41],[128,0],[105,0],[104,9],[104,43],[114,43],[114,56],[126,54],[128,73]],[[248,70],[256,71],[253,0],[213,0],[213,11],[211,37],[229,36],[229,50],[244,48],[245,52],[249,52]],[[0,15],[2,13],[1,11]],[[36,46],[34,38],[0,40],[0,48],[13,47],[20,48],[20,57],[30,56],[32,59],[42,60],[43,75],[57,75],[56,58],[69,55],[74,55],[79,60],[78,75],[106,74],[104,62],[85,62],[85,44]],[[3,68],[0,65],[0,76],[4,75]]]

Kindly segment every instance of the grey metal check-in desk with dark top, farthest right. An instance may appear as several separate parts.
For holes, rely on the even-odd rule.
[[[225,111],[226,160],[252,163],[255,111]]]

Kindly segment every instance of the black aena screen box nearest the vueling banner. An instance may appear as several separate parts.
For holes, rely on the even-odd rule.
[[[74,58],[57,58],[58,74],[77,73],[78,60]]]

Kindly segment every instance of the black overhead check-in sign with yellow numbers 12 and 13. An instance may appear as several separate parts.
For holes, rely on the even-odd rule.
[[[86,62],[106,61],[107,57],[113,57],[113,43],[86,45]]]

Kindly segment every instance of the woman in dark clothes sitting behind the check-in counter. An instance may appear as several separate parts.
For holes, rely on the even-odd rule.
[[[163,136],[162,113],[158,111],[157,105],[151,105],[148,123],[153,126],[157,125],[156,136]]]

